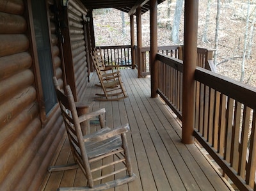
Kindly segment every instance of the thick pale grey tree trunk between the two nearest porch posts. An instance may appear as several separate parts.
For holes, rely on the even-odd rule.
[[[177,0],[175,6],[175,12],[173,17],[173,26],[172,26],[172,42],[179,43],[179,29],[180,29],[180,17],[182,13],[184,0]]]

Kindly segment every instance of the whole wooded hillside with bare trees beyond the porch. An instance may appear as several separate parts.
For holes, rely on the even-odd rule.
[[[255,7],[256,0],[201,0],[198,13],[198,47],[216,50],[214,61],[218,73],[254,87]],[[94,10],[93,15],[96,45],[131,44],[127,14],[104,9]],[[159,46],[183,44],[184,0],[166,0],[159,4],[157,20]],[[136,24],[136,17],[134,23]],[[149,12],[142,15],[142,24],[142,44],[143,47],[149,47]]]

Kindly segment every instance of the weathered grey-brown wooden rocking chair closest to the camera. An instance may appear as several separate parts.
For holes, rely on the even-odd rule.
[[[84,181],[84,187],[59,188],[59,190],[105,190],[134,180],[136,175],[132,172],[126,138],[126,133],[129,132],[129,125],[125,124],[113,129],[103,127],[92,134],[83,136],[80,124],[93,118],[93,116],[102,115],[105,109],[78,116],[70,87],[67,85],[67,95],[63,94],[55,77],[54,86],[76,164],[54,166],[49,168],[49,171],[63,171],[80,167],[87,179],[87,183]],[[103,165],[102,160],[107,157],[111,158],[112,161]],[[118,167],[116,167],[117,165]],[[121,168],[119,165],[123,167]],[[110,166],[113,166],[113,171],[108,174],[100,173],[102,169]],[[123,178],[95,185],[95,181],[99,182],[104,178],[109,178],[109,176],[114,177],[114,174],[124,171],[126,175]]]

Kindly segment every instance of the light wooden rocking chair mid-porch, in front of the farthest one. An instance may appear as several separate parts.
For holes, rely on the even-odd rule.
[[[116,101],[116,100],[127,98],[127,94],[121,79],[120,71],[116,71],[113,73],[102,73],[102,70],[101,70],[102,63],[100,63],[100,61],[95,56],[95,52],[94,52],[94,55],[91,54],[91,56],[93,60],[93,65],[95,67],[95,70],[100,80],[100,87],[104,91],[104,94],[97,93],[96,95],[100,97],[96,97],[95,100]]]

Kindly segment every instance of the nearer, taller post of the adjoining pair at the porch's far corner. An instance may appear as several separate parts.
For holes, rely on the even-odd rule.
[[[137,22],[137,46],[138,46],[138,57],[137,57],[137,64],[138,64],[138,77],[141,77],[141,48],[142,48],[142,33],[141,33],[141,7],[137,8],[136,11],[136,22]]]

